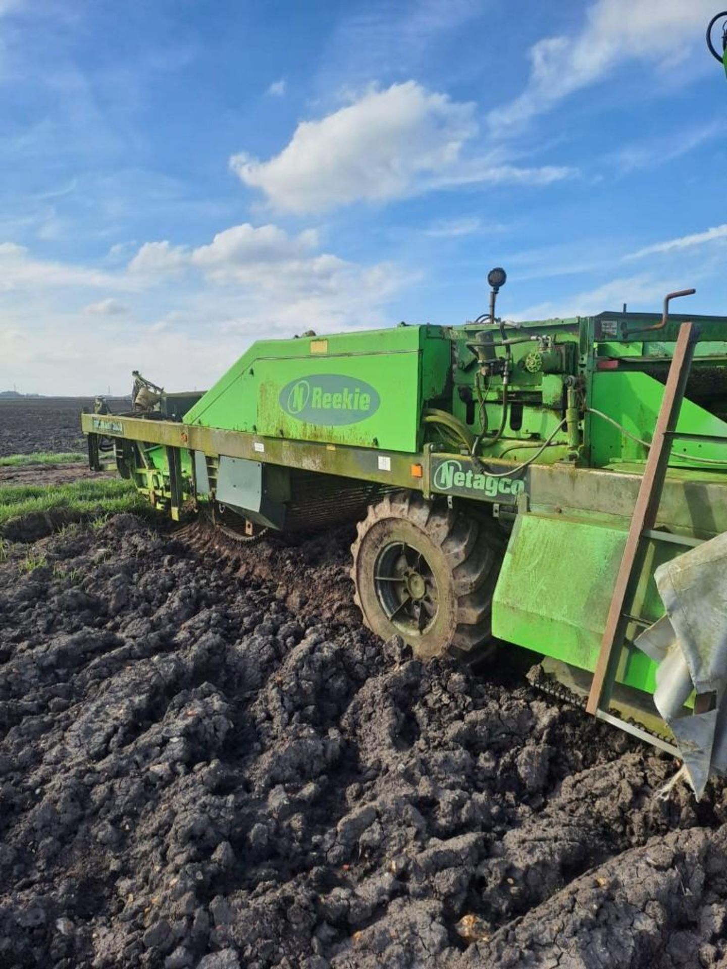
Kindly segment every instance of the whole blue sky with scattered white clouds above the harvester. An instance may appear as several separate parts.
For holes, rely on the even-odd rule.
[[[718,4],[716,5],[718,7]],[[258,337],[727,313],[714,0],[0,0],[0,390]]]

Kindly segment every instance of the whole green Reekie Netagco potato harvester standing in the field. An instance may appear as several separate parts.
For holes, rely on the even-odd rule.
[[[225,535],[358,521],[364,623],[428,659],[509,644],[538,685],[727,770],[727,317],[663,312],[255,342],[205,393],[135,372],[82,417],[154,508]],[[567,690],[567,694],[565,691]]]

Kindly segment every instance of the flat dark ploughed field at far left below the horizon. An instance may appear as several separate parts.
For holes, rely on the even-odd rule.
[[[113,401],[128,408],[128,401]],[[0,397],[0,457],[83,448],[80,414],[92,397]]]

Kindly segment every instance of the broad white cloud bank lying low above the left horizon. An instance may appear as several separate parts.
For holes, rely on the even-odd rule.
[[[7,278],[12,288],[3,288]],[[125,392],[135,367],[167,387],[202,388],[253,340],[391,323],[388,302],[415,278],[388,263],[363,266],[321,252],[314,231],[287,234],[273,225],[234,226],[196,248],[146,243],[128,266],[105,273],[44,263],[2,243],[0,389],[15,382],[43,393],[109,385]],[[60,282],[67,289],[59,291]],[[78,309],[102,285],[138,294],[133,317],[106,294]],[[89,314],[107,318],[103,345],[88,340]]]

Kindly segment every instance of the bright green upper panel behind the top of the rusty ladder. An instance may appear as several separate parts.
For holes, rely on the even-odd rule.
[[[664,385],[647,373],[604,370],[593,374],[590,406],[603,411],[643,440],[650,441],[664,395]],[[590,463],[605,467],[613,461],[646,459],[647,450],[621,434],[613,424],[589,416]],[[680,431],[727,437],[727,422],[720,421],[704,407],[684,398],[681,404]],[[711,460],[727,461],[727,447],[699,441],[674,442],[673,453],[695,454]],[[688,467],[683,459],[672,458],[674,467]],[[706,465],[699,466],[705,470]]]

